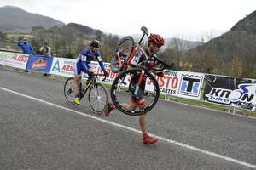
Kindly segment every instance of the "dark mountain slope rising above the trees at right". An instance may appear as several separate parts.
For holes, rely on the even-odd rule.
[[[256,63],[256,11],[237,22],[230,31],[197,49],[206,49],[222,61],[241,56]]]

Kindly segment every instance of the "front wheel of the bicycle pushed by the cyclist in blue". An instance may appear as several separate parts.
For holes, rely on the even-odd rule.
[[[88,101],[91,111],[97,115],[102,114],[108,103],[108,93],[101,83],[91,85],[88,94]]]

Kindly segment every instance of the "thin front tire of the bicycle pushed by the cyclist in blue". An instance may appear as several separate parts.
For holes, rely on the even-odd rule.
[[[96,88],[97,94],[96,94],[96,96],[92,96],[92,90],[95,88]],[[100,88],[102,88],[101,92],[99,92],[99,90],[98,90]],[[103,101],[101,100],[102,98],[104,98]],[[96,105],[99,105],[99,103],[97,103],[96,105],[93,105],[92,99],[98,100],[96,102],[102,102],[102,107],[100,109],[97,109]],[[96,82],[95,86],[91,85],[90,89],[89,89],[89,94],[88,94],[88,101],[89,101],[91,111],[93,111],[97,115],[101,115],[102,112],[105,111],[107,104],[108,104],[108,92],[107,92],[106,88],[99,82]]]

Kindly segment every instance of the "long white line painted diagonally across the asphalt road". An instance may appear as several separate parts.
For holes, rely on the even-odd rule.
[[[126,129],[126,130],[130,130],[130,131],[135,132],[135,133],[141,133],[139,130],[137,130],[137,129],[135,129],[135,128],[126,127],[126,126],[124,126],[124,125],[121,125],[121,124],[118,124],[118,123],[115,123],[115,122],[110,122],[110,121],[107,121],[107,120],[98,118],[98,117],[96,117],[96,116],[87,115],[87,114],[85,114],[85,113],[83,113],[83,112],[75,111],[75,110],[72,110],[72,109],[68,109],[67,107],[63,107],[63,106],[61,106],[61,105],[55,105],[55,104],[50,103],[50,102],[48,102],[48,101],[44,101],[43,99],[34,98],[34,97],[28,96],[28,95],[26,95],[26,94],[20,94],[19,92],[15,92],[15,91],[9,90],[9,89],[7,89],[7,88],[2,88],[2,87],[0,87],[0,89],[2,89],[2,90],[4,90],[4,91],[7,91],[7,92],[9,92],[9,93],[12,93],[12,94],[18,94],[18,95],[23,96],[23,97],[26,97],[26,98],[28,98],[28,99],[32,99],[32,100],[35,100],[35,101],[38,101],[38,102],[42,102],[42,103],[47,104],[47,105],[52,105],[52,106],[55,106],[55,107],[57,107],[57,108],[60,108],[60,109],[66,110],[66,111],[71,111],[71,112],[73,112],[73,113],[76,113],[76,114],[79,114],[79,115],[82,115],[82,116],[87,116],[87,117],[89,117],[89,118],[91,118],[91,119],[94,119],[94,120],[97,120],[97,121],[99,121],[99,122],[106,122],[106,123],[108,123],[108,124],[110,124],[110,125],[113,125],[113,126],[115,126],[115,127],[121,127],[121,128],[124,128],[124,129]],[[189,144],[183,144],[183,143],[177,142],[177,141],[175,141],[175,140],[166,139],[166,138],[164,138],[164,137],[160,137],[160,136],[157,136],[157,135],[154,135],[154,134],[150,134],[150,135],[152,135],[152,136],[154,136],[154,137],[156,137],[156,138],[158,138],[158,139],[160,139],[160,140],[163,140],[163,141],[165,141],[165,142],[167,142],[167,143],[169,143],[169,144],[176,144],[176,145],[178,145],[178,146],[180,146],[180,147],[183,147],[183,148],[186,148],[186,149],[189,149],[189,150],[195,150],[195,151],[201,152],[201,153],[203,153],[203,154],[206,154],[206,155],[208,155],[208,156],[214,156],[214,157],[217,157],[217,158],[219,158],[219,159],[224,159],[225,161],[230,161],[230,162],[233,162],[233,163],[236,163],[236,164],[245,166],[245,167],[251,167],[251,168],[253,168],[253,169],[256,169],[256,165],[247,163],[247,162],[245,162],[245,161],[239,161],[239,160],[236,160],[236,159],[231,158],[231,157],[228,157],[228,156],[222,156],[222,155],[219,155],[219,154],[214,153],[214,152],[212,152],[212,151],[201,150],[201,149],[199,149],[199,148],[196,148],[195,146],[192,146],[192,145],[189,145]]]

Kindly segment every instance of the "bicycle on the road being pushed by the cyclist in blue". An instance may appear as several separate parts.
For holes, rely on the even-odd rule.
[[[106,109],[108,103],[108,93],[106,88],[99,81],[100,77],[104,76],[102,82],[105,81],[106,76],[103,74],[90,74],[87,81],[79,80],[79,100],[83,99],[88,92],[88,102],[91,111],[100,115]],[[69,77],[64,84],[64,96],[69,105],[75,105],[74,102],[74,78]]]

